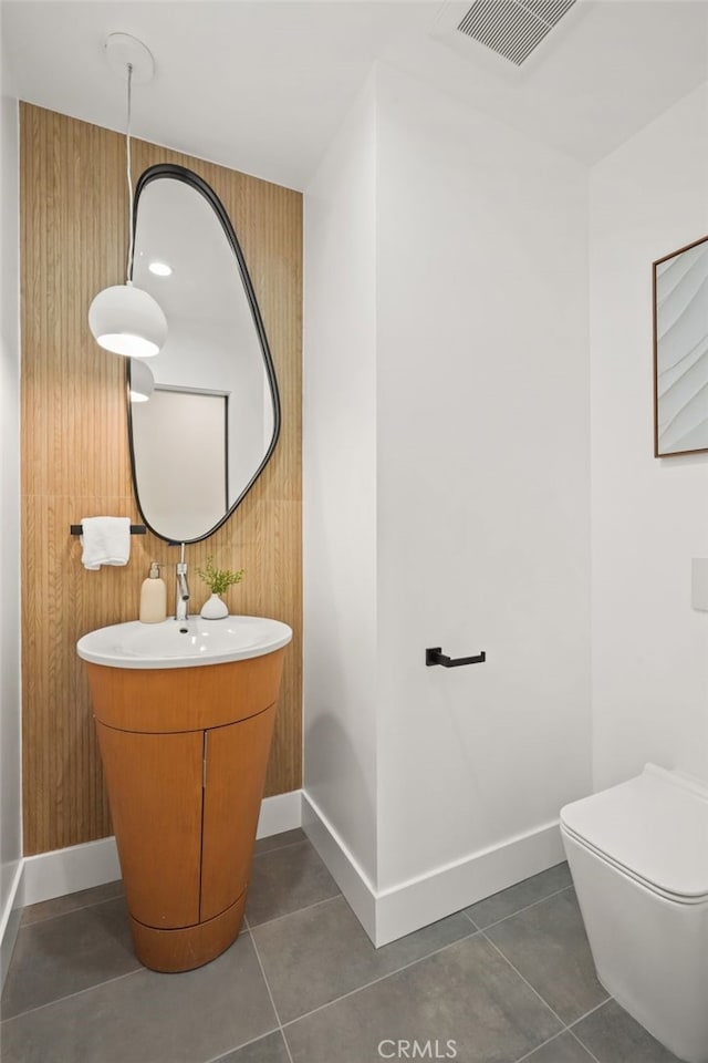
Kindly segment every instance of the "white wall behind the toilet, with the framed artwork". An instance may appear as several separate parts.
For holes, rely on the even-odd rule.
[[[594,785],[708,778],[708,454],[653,457],[652,262],[708,234],[708,84],[591,173]]]

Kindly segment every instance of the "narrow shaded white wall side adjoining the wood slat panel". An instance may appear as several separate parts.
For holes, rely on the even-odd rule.
[[[304,780],[376,875],[375,100],[305,196]]]

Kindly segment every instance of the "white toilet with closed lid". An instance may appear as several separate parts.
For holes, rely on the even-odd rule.
[[[708,1063],[708,785],[647,764],[561,809],[597,977],[657,1041]]]

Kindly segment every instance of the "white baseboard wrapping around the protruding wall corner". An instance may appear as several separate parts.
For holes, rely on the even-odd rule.
[[[558,822],[376,890],[336,830],[303,792],[303,829],[379,948],[565,859]]]

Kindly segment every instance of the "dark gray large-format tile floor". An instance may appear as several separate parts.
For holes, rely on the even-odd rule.
[[[119,884],[25,909],[0,1024],[3,1063],[379,1063],[416,1041],[677,1063],[597,982],[564,864],[376,950],[301,830],[257,844],[244,929],[197,971],[137,962]]]

